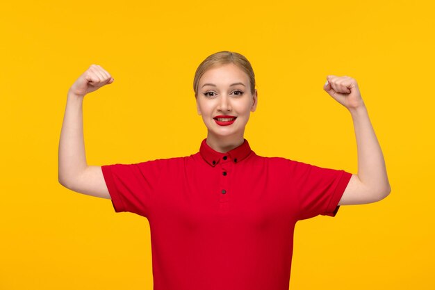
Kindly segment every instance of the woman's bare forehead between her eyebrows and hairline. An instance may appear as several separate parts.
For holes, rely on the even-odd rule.
[[[215,83],[216,85],[234,83],[235,81],[245,83],[247,86],[249,77],[247,74],[237,65],[233,63],[227,63],[224,65],[215,65],[202,75],[199,79],[199,88],[203,83]]]

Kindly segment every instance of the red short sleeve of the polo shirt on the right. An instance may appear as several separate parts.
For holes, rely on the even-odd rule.
[[[352,173],[345,170],[321,168],[291,161],[291,186],[299,205],[299,220],[318,215],[336,216]]]

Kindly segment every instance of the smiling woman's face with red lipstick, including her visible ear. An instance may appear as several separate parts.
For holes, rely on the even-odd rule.
[[[256,104],[249,77],[233,63],[212,67],[199,79],[197,111],[208,134],[240,138]]]

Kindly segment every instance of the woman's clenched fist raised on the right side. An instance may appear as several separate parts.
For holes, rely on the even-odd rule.
[[[327,76],[323,89],[348,110],[364,106],[358,83],[350,76]]]

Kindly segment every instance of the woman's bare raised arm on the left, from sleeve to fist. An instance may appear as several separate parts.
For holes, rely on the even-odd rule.
[[[58,182],[66,188],[108,198],[101,166],[88,166],[83,139],[83,99],[89,92],[113,83],[113,78],[99,65],[91,65],[69,88],[67,106],[59,141]]]

